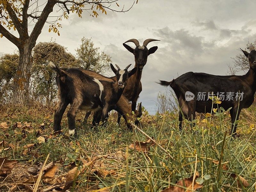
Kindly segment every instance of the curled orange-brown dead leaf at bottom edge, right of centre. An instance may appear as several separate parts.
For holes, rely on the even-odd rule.
[[[199,176],[199,173],[196,172],[196,178],[198,176]],[[193,191],[192,188],[195,191],[196,189],[199,189],[199,188],[203,187],[203,185],[197,184],[196,181],[194,181],[194,187],[192,187],[192,183],[193,183],[193,176],[191,176],[190,178],[185,178],[183,180],[180,180],[176,184],[177,186],[172,186],[172,187],[166,188],[166,189],[162,190],[161,192],[185,192],[185,191],[189,192],[189,191]],[[179,186],[183,186],[186,189],[181,188]]]

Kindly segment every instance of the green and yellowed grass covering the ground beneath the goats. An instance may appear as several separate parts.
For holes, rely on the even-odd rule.
[[[99,127],[96,132],[89,125],[82,124],[84,113],[78,112],[77,140],[65,134],[68,131],[66,113],[62,119],[64,135],[51,135],[52,108],[4,106],[0,113],[0,123],[7,122],[9,126],[1,129],[0,141],[4,140],[6,146],[10,143],[15,146],[13,149],[3,150],[1,157],[16,159],[25,167],[24,171],[29,166],[44,162],[50,154],[48,163],[53,161],[58,166],[55,176],[63,175],[60,178],[65,178],[64,174],[69,171],[72,162],[79,165],[79,158],[98,157],[92,172],[78,176],[70,191],[99,191],[100,188],[109,187],[110,191],[158,192],[175,185],[182,178],[190,178],[195,171],[199,173],[197,182],[203,182],[203,187],[197,191],[256,191],[254,106],[242,110],[238,127],[240,137],[236,139],[229,135],[231,124],[228,112],[219,116],[212,114],[207,117],[207,121],[204,120],[205,116],[199,117],[198,114],[196,126],[191,129],[190,123],[184,121],[182,132],[179,131],[178,117],[175,114],[162,114],[158,117],[144,115],[141,120],[142,130],[160,143],[172,158],[156,145],[150,146],[147,153],[128,148],[134,138],[136,141],[146,141],[148,138],[136,130],[133,134],[124,122],[121,127],[116,127],[116,115],[110,116],[106,128]],[[15,122],[24,125],[26,121],[31,123],[32,128],[13,127]],[[44,130],[40,127],[42,123],[46,124]],[[43,136],[46,142],[38,143],[39,136]],[[23,146],[31,143],[36,143],[35,147],[29,148],[24,155]],[[102,162],[105,164],[104,168],[101,166]],[[228,170],[222,169],[224,164]],[[102,176],[102,170],[113,173]],[[0,179],[1,191],[8,191],[13,184],[12,179],[16,183],[27,180],[26,177],[17,178],[16,171],[17,168],[14,167],[6,179]],[[238,177],[231,177],[232,173],[246,179],[249,186],[245,188],[239,185]],[[49,186],[41,183],[39,189]]]

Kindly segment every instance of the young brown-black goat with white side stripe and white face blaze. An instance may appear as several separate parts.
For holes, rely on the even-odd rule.
[[[68,111],[68,133],[76,134],[75,115],[78,109],[98,111],[102,109],[102,121],[108,115],[108,108],[115,105],[123,93],[123,88],[127,84],[127,79],[131,77],[137,68],[128,72],[128,65],[121,70],[117,65],[114,68],[110,64],[112,71],[116,74],[117,81],[105,77],[100,79],[88,76],[86,70],[78,68],[59,68],[52,62],[49,67],[57,72],[56,83],[60,101],[55,108],[53,129],[60,130],[60,122],[65,109],[70,104]],[[104,79],[104,80],[102,80]]]

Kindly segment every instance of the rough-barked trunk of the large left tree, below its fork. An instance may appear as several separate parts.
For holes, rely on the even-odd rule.
[[[32,48],[25,43],[21,48],[18,69],[13,79],[13,103],[28,105],[29,103],[29,80],[32,67]]]

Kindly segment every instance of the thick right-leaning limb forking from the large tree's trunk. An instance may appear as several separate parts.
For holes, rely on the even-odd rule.
[[[29,36],[29,41],[32,43],[32,47],[36,45],[36,39],[40,35],[49,14],[53,11],[53,7],[55,4],[56,1],[53,0],[48,0],[48,2],[46,3],[44,10],[42,11],[40,17],[38,18],[38,21],[36,22],[36,25],[34,26]]]

